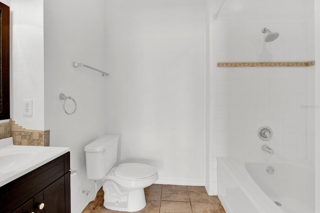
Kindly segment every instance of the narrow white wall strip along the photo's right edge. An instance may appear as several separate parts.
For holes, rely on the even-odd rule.
[[[315,70],[320,69],[320,2],[314,0]],[[320,105],[320,74],[315,73],[315,104]],[[315,213],[320,213],[320,110],[315,110]]]

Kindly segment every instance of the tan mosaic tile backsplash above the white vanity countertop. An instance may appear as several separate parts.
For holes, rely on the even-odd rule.
[[[28,130],[10,120],[0,124],[0,139],[8,137],[13,138],[14,145],[49,146],[50,130]]]

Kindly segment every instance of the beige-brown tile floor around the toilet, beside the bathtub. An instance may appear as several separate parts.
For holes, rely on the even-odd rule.
[[[144,189],[146,206],[137,213],[225,213],[217,196],[204,187],[153,184]],[[121,213],[103,207],[100,189],[82,213]]]

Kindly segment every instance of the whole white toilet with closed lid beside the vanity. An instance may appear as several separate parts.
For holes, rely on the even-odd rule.
[[[84,147],[86,176],[102,180],[104,202],[109,210],[136,212],[145,207],[144,188],[158,180],[156,168],[139,163],[114,167],[118,136],[105,135]]]

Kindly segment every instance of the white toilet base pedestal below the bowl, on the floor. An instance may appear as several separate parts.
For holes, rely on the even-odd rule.
[[[121,212],[136,212],[142,210],[146,203],[143,188],[122,191],[113,181],[103,184],[103,206],[109,210]]]

